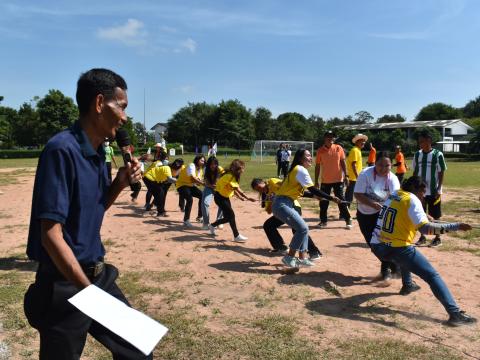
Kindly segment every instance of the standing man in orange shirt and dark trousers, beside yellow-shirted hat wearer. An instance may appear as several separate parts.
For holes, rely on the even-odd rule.
[[[329,130],[323,135],[323,145],[317,149],[315,161],[315,187],[319,187],[320,170],[322,172],[320,190],[330,195],[333,189],[335,197],[344,198],[344,185],[348,185],[347,168],[345,164],[345,152],[343,148],[335,144],[335,134]],[[327,226],[327,210],[329,201],[320,200],[320,223],[319,226]],[[338,204],[340,217],[345,220],[346,226],[352,226],[352,220],[348,207],[345,203]]]

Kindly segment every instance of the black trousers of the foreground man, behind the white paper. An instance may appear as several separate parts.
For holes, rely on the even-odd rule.
[[[106,265],[105,270],[91,280],[96,286],[130,306],[115,284],[117,277],[117,269]],[[30,325],[40,333],[40,360],[80,359],[87,334],[110,350],[114,360],[153,358],[152,354],[145,356],[70,304],[67,299],[77,292],[78,289],[58,271],[51,268],[45,270],[42,264],[39,266],[35,282],[25,294],[24,310]]]

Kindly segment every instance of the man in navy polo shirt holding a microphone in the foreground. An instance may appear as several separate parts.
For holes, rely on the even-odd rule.
[[[95,284],[128,304],[115,284],[118,271],[103,263],[105,211],[123,188],[141,178],[136,159],[110,183],[102,143],[127,121],[127,84],[114,72],[92,69],[77,83],[80,117],[52,137],[38,162],[27,255],[39,262],[25,294],[25,314],[40,333],[40,359],[79,359],[87,333],[114,359],[151,359],[93,321],[67,299]]]

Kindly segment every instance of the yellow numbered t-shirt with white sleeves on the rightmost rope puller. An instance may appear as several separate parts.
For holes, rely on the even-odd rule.
[[[421,201],[412,193],[398,190],[384,203],[370,243],[409,246],[417,230],[426,223],[428,218]]]

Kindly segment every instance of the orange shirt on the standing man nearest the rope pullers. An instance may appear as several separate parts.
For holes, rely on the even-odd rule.
[[[332,144],[330,148],[324,145],[318,148],[315,163],[321,165],[322,183],[333,184],[343,181],[341,160],[345,160],[345,152],[340,145]]]

